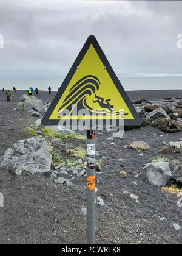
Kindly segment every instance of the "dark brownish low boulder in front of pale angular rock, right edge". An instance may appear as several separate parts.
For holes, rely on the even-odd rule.
[[[179,132],[181,130],[181,126],[178,123],[175,123],[174,120],[170,120],[167,118],[159,118],[152,122],[152,126],[160,129],[162,132]]]

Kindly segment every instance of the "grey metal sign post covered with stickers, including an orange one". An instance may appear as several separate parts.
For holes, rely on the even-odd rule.
[[[95,130],[87,130],[87,244],[95,244]]]

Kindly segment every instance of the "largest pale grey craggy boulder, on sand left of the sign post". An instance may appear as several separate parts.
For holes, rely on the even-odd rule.
[[[50,172],[51,163],[50,146],[44,138],[39,137],[16,142],[0,158],[0,167],[7,167],[16,175],[22,171],[32,174]]]

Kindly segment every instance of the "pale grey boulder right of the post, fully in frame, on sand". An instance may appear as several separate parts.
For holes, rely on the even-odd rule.
[[[140,177],[152,185],[166,186],[172,176],[169,163],[148,163],[141,171]]]

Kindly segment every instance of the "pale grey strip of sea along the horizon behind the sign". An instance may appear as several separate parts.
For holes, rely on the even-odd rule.
[[[182,76],[118,76],[121,84],[126,91],[143,90],[182,90]],[[30,86],[39,90],[47,90],[50,86],[52,90],[57,91],[63,79],[53,78],[1,78],[0,90],[12,89],[27,90]]]

